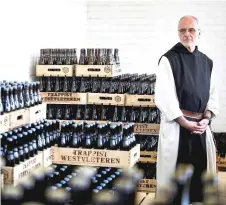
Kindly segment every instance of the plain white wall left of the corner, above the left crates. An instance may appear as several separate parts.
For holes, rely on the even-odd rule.
[[[40,48],[85,46],[86,1],[0,1],[0,80],[29,80]]]

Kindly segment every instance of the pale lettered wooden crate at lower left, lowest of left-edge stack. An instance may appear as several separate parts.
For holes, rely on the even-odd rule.
[[[24,180],[30,174],[42,167],[42,154],[38,154],[25,162],[20,163],[15,167],[2,167],[4,173],[4,183],[17,185],[21,180]]]

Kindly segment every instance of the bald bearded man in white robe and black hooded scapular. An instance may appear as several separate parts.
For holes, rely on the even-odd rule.
[[[201,175],[216,172],[216,150],[209,124],[218,114],[213,61],[200,52],[198,20],[184,16],[180,42],[159,60],[155,102],[161,111],[157,156],[157,194],[176,166],[192,164],[190,202],[203,200]]]

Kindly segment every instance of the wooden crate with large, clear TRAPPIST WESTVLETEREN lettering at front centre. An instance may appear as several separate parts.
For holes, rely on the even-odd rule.
[[[130,151],[53,147],[54,164],[132,167],[139,160],[140,145]]]

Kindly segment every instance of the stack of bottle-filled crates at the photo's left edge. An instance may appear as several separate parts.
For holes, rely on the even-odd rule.
[[[39,85],[39,82],[0,82],[0,155],[5,184],[16,185],[43,166],[43,152],[37,150],[37,130],[32,129],[32,124],[46,117]]]

